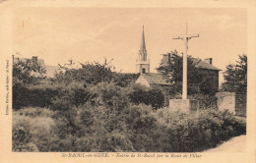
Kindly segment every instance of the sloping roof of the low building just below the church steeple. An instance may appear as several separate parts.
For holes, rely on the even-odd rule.
[[[149,83],[155,83],[155,84],[161,84],[161,85],[170,84],[166,81],[167,79],[164,78],[161,74],[147,73],[147,74],[142,74],[141,76],[144,77],[144,79]]]

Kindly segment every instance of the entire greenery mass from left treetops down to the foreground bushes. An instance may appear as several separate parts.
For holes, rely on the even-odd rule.
[[[107,65],[66,69],[47,84],[43,72],[14,65],[13,151],[192,152],[246,133],[245,121],[226,111],[171,112],[161,89]]]

